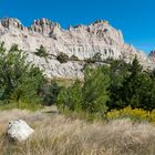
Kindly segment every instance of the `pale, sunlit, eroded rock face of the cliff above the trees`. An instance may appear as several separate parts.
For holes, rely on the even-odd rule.
[[[142,64],[147,65],[148,62],[142,51],[124,43],[122,32],[104,20],[89,25],[70,25],[64,30],[59,23],[48,19],[34,20],[30,28],[25,28],[18,19],[7,18],[0,21],[0,41],[4,41],[7,48],[13,43],[19,44],[19,48],[28,52],[29,61],[44,69],[49,78],[83,79],[84,63],[81,61],[97,52],[102,54],[102,59],[124,59],[130,62],[137,55]],[[41,44],[46,48],[49,54],[74,54],[81,61],[61,64],[54,56],[45,61],[44,58],[33,54]]]

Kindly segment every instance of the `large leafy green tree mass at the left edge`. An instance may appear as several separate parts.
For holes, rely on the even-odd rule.
[[[27,55],[14,44],[9,51],[0,44],[0,101],[2,104],[41,102],[39,90],[43,80],[42,72],[27,63]]]

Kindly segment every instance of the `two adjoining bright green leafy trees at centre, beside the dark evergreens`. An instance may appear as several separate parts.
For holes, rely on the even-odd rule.
[[[107,110],[110,78],[106,66],[86,69],[84,84],[75,81],[73,85],[64,87],[58,96],[61,110],[83,111],[86,113],[104,114]]]

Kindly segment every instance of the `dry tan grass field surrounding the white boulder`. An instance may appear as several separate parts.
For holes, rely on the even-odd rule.
[[[23,143],[10,143],[10,120],[23,118],[35,133]],[[155,126],[130,120],[86,123],[62,115],[25,111],[0,112],[0,155],[155,155]]]

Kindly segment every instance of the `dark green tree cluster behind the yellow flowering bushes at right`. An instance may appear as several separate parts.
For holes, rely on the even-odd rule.
[[[118,62],[111,66],[111,101],[110,110],[124,108],[131,105],[133,108],[152,111],[155,108],[155,79],[153,74],[144,72],[135,58],[131,64],[122,65]]]

